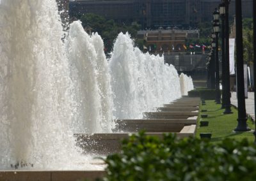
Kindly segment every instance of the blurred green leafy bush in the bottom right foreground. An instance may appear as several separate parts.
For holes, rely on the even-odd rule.
[[[122,152],[106,158],[104,180],[254,180],[256,147],[247,140],[208,140],[164,134],[163,139],[134,134]]]

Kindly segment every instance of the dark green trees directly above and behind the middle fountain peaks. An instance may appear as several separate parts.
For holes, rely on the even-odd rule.
[[[137,31],[141,28],[137,22],[132,22],[129,25],[118,24],[112,19],[108,20],[93,13],[82,15],[80,20],[87,32],[91,29],[92,32],[97,32],[102,37],[106,53],[111,52],[113,43],[120,32],[128,32],[131,34],[131,38],[135,40]]]

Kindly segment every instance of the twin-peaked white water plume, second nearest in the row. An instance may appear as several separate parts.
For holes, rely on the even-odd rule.
[[[93,34],[90,37],[81,22],[70,25],[67,52],[78,103],[74,133],[111,131],[113,99],[103,46],[100,36]]]

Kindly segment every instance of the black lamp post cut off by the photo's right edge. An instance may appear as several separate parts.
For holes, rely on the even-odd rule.
[[[253,86],[254,86],[254,113],[256,115],[256,1],[253,1]],[[256,121],[253,132],[256,143]]]

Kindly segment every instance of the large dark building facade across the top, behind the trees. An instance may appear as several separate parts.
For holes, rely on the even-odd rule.
[[[253,0],[242,0],[243,17],[252,17]],[[70,17],[95,13],[120,23],[139,22],[143,29],[157,27],[196,27],[212,20],[220,0],[77,0],[69,2]],[[230,18],[235,1],[230,3]]]

